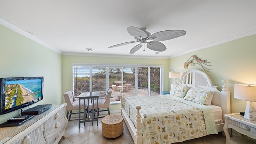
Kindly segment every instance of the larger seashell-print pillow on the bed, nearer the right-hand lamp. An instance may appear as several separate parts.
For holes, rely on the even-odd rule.
[[[214,92],[206,90],[206,89],[195,89],[191,88],[184,99],[202,104],[202,105],[208,105],[211,104],[211,100],[213,97]]]

